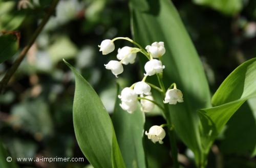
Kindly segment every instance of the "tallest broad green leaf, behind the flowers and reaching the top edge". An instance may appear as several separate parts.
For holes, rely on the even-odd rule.
[[[134,4],[135,1],[147,3],[149,10],[140,10],[135,6],[138,3]],[[210,106],[210,92],[197,51],[172,2],[134,0],[131,8],[135,41],[144,47],[155,41],[164,42],[166,53],[162,60],[165,65],[165,85],[169,87],[176,82],[184,95],[183,103],[169,105],[170,116],[177,134],[193,150],[199,162],[202,156],[196,110]]]

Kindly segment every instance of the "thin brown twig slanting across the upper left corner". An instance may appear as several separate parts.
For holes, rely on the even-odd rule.
[[[31,39],[28,42],[28,45],[26,45],[23,50],[19,53],[18,58],[14,61],[14,63],[12,64],[11,68],[8,69],[8,71],[6,72],[4,78],[2,79],[2,81],[0,82],[0,93],[3,93],[10,78],[12,77],[12,75],[16,72],[16,70],[18,69],[18,66],[20,65],[20,63],[22,63],[23,59],[25,58],[28,50],[30,49],[30,47],[34,44],[36,38],[38,37],[38,35],[40,34],[40,32],[42,31],[42,29],[44,28],[44,26],[46,25],[46,23],[48,22],[48,20],[50,19],[51,15],[54,13],[55,8],[58,4],[59,0],[54,0],[47,15],[42,19],[42,21],[40,22],[39,26],[37,27],[36,31],[34,32],[33,36],[31,37]]]

